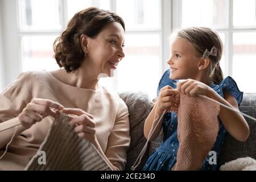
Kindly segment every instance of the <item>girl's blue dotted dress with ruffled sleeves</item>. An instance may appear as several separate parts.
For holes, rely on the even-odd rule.
[[[176,88],[177,80],[171,80],[170,69],[168,69],[162,76],[159,86],[159,90],[166,85]],[[240,105],[243,97],[243,92],[237,87],[236,82],[232,77],[226,77],[220,85],[210,84],[210,88],[214,89],[221,97],[223,97],[223,89],[227,90],[234,98],[236,98],[238,105]],[[211,155],[204,160],[201,170],[216,170],[218,166],[218,159],[221,150],[222,143],[224,142],[227,131],[225,130],[222,122],[220,121],[220,130],[216,142],[214,143],[211,151],[215,151],[217,154],[217,164],[210,164],[209,158]],[[179,148],[179,140],[177,139],[177,115],[174,112],[166,113],[163,116],[163,143],[152,152],[148,158],[143,170],[171,170],[176,163],[177,149]]]

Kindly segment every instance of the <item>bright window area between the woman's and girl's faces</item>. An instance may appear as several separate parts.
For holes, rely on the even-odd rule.
[[[118,68],[116,90],[143,90],[153,98],[161,75],[161,2],[117,0],[116,5],[127,27],[126,57]]]

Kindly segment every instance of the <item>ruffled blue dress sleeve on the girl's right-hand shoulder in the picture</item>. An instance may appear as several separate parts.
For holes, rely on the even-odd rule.
[[[238,89],[236,81],[230,76],[226,77],[224,80],[221,81],[218,89],[216,90],[217,93],[221,94],[223,97],[223,90],[228,91],[234,98],[237,100],[238,106],[241,104],[243,99],[243,92]]]

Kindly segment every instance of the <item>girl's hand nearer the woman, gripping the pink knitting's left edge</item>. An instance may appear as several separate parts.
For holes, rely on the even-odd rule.
[[[163,112],[164,110],[175,110],[175,94],[177,94],[177,90],[173,89],[171,86],[167,85],[160,89],[160,93],[158,96],[158,111]]]

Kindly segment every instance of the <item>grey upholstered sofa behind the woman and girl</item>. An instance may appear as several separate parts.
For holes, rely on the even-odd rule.
[[[130,135],[131,144],[127,151],[126,170],[130,170],[137,156],[141,152],[146,139],[143,135],[143,125],[147,115],[152,109],[152,103],[146,93],[143,92],[122,92],[119,96],[125,101],[130,113]],[[256,118],[256,93],[243,94],[243,101],[240,105],[240,110],[254,118]],[[250,156],[256,159],[256,122],[245,118],[250,127],[250,136],[246,142],[238,142],[229,134],[225,138],[224,146],[221,151],[220,165],[230,160]],[[141,170],[148,156],[162,142],[162,133],[153,142],[148,144],[141,164],[136,170]]]

